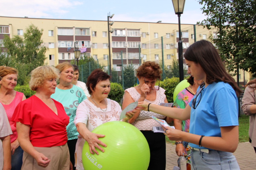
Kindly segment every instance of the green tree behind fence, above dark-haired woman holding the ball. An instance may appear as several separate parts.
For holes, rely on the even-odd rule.
[[[72,62],[72,61],[71,61]],[[78,69],[79,69],[79,81],[87,82],[87,78],[91,72],[95,69],[103,70],[104,66],[97,63],[93,57],[84,56],[83,59],[78,60]]]

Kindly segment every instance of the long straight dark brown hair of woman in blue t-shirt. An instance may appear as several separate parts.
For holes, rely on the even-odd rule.
[[[199,63],[206,74],[207,84],[223,81],[235,90],[237,97],[242,92],[235,80],[227,73],[217,49],[211,42],[200,40],[193,43],[186,50],[184,57],[186,60]],[[201,86],[203,85],[204,83]]]

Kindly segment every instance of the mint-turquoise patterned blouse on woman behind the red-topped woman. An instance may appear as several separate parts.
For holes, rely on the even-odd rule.
[[[55,93],[51,95],[51,98],[59,101],[69,116],[69,123],[67,125],[68,140],[77,139],[78,132],[74,124],[74,119],[78,104],[86,99],[84,91],[75,85],[67,90],[61,90],[56,87]]]

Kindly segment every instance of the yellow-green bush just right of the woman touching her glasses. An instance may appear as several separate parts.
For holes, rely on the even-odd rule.
[[[160,87],[165,89],[165,95],[169,103],[173,102],[173,92],[179,83],[180,79],[177,77],[166,78],[163,81],[160,81]]]

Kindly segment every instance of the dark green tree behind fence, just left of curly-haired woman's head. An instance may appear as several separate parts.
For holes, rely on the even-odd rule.
[[[124,89],[133,87],[136,81],[134,76],[134,65],[132,63],[124,66]]]

